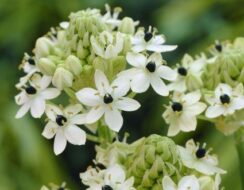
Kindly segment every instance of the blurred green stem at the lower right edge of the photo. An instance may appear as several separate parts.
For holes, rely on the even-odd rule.
[[[236,150],[239,156],[239,168],[242,188],[244,189],[244,127],[235,133]]]

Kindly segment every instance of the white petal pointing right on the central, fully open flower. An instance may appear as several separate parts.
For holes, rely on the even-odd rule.
[[[115,103],[116,108],[123,111],[135,111],[140,108],[139,102],[133,100],[132,98],[121,97]]]

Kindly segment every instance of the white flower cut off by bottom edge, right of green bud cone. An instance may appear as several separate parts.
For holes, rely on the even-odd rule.
[[[182,177],[176,185],[169,176],[163,178],[163,190],[200,190],[198,179],[194,176]]]

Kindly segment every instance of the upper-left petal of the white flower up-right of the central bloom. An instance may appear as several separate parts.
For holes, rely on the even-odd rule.
[[[130,65],[140,68],[145,67],[147,62],[147,58],[143,54],[131,52],[126,54],[126,60]]]

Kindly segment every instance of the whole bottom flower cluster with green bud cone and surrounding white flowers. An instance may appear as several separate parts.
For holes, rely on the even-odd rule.
[[[225,173],[211,149],[193,140],[182,147],[151,135],[96,150],[95,166],[80,175],[89,190],[219,190],[220,174]]]

